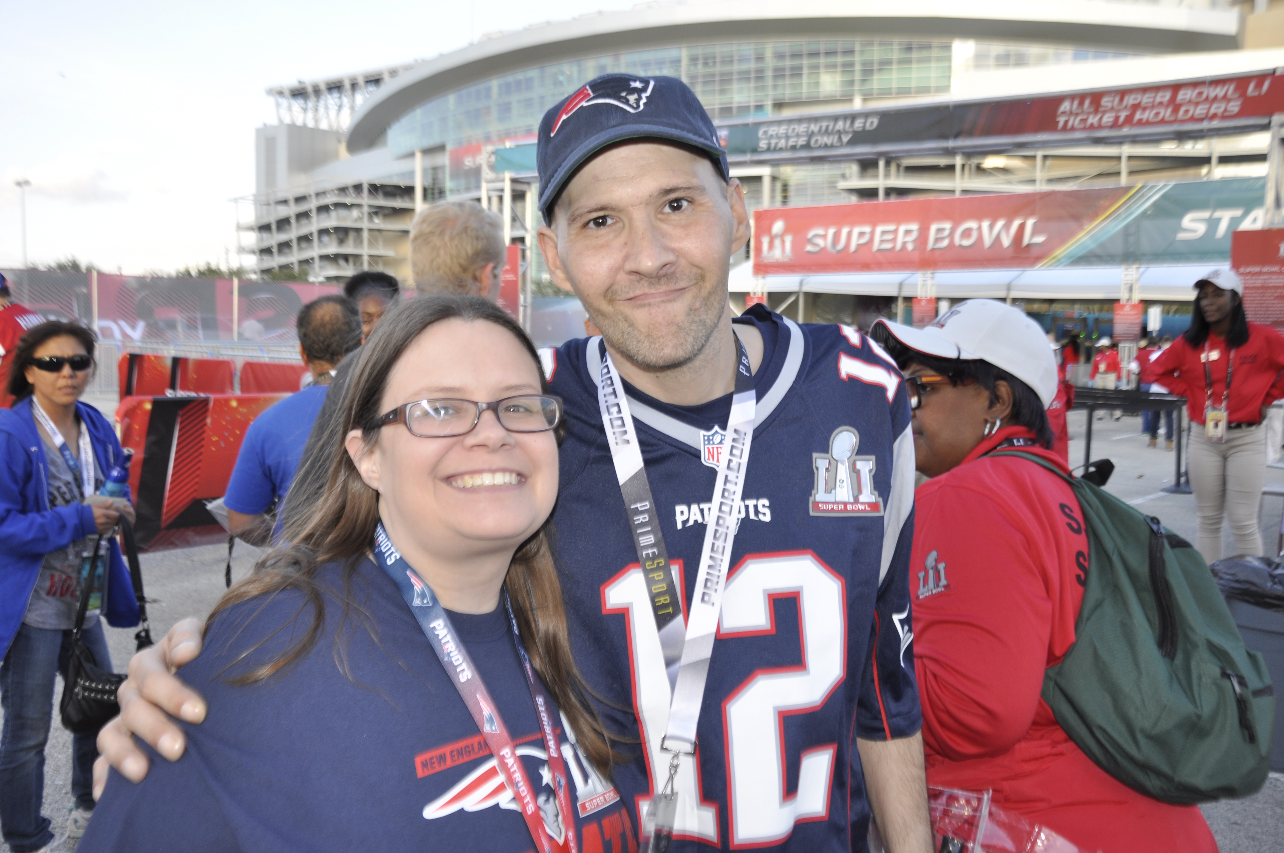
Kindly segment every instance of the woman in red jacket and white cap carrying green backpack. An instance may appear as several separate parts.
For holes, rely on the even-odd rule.
[[[928,784],[990,789],[1084,850],[1216,853],[1197,807],[1107,775],[1040,698],[1075,642],[1088,534],[1064,480],[986,453],[1017,446],[1068,471],[1049,450],[1057,365],[1043,330],[972,299],[927,329],[880,320],[871,334],[907,374],[914,455],[932,478],[915,493],[910,556]]]

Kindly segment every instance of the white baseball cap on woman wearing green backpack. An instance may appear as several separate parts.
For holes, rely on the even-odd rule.
[[[1046,407],[1057,396],[1057,357],[1043,326],[994,299],[960,302],[924,329],[878,320],[905,347],[937,358],[986,361],[1030,385]]]

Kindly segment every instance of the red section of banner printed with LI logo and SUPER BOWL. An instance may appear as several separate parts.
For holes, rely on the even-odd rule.
[[[1134,191],[1050,190],[755,211],[754,275],[1040,266],[1089,235]]]

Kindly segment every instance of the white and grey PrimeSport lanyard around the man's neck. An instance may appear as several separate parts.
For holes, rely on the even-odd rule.
[[[589,346],[593,346],[593,342],[589,342]],[[754,371],[743,344],[736,338],[736,392],[727,419],[722,459],[718,461],[718,478],[714,480],[713,516],[705,529],[704,547],[700,550],[696,592],[683,631],[682,596],[673,577],[655,500],[651,497],[651,484],[642,465],[642,448],[638,444],[633,416],[629,414],[624,383],[601,338],[598,346],[602,353],[602,370],[597,402],[602,412],[602,426],[606,429],[611,461],[615,462],[615,477],[624,496],[633,543],[637,546],[651,597],[651,613],[660,632],[664,667],[673,689],[669,722],[661,741],[663,748],[674,754],[674,763],[669,768],[672,782],[677,772],[678,755],[695,753],[696,723],[704,701],[709,656],[713,654],[723,586],[727,581],[732,542],[736,538],[736,514],[745,487],[749,448],[754,438],[758,405]]]

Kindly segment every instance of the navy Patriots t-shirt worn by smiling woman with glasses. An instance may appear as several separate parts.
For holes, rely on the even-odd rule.
[[[342,574],[329,565],[318,581],[338,595]],[[533,850],[476,723],[397,586],[365,560],[352,590],[369,615],[353,610],[344,620],[343,606],[329,597],[316,646],[253,686],[227,683],[245,669],[238,658],[248,653],[249,665],[263,663],[298,640],[308,611],[290,619],[304,599],[290,591],[220,614],[200,656],[181,672],[209,703],[205,722],[181,723],[187,750],[177,762],[149,750],[152,769],[141,784],[112,771],[81,853]],[[528,777],[539,784],[550,835],[569,850],[503,606],[451,618]],[[374,620],[377,640],[363,619]],[[559,736],[579,850],[637,853],[636,826],[619,795],[575,749],[565,725]]]

